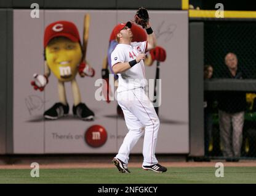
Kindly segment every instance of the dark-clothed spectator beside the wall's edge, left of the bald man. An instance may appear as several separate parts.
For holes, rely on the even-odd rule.
[[[204,80],[210,80],[214,69],[210,65],[204,66]],[[204,91],[204,156],[205,161],[209,159],[209,143],[212,138],[212,113],[214,107],[213,94],[210,91]]]

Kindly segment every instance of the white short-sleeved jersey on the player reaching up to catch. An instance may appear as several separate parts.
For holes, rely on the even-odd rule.
[[[119,62],[136,59],[138,53],[145,53],[147,42],[132,42],[130,45],[119,43],[111,53],[111,66]],[[118,66],[118,65],[116,65]],[[145,66],[143,60],[125,72],[118,74],[118,92],[146,86]]]

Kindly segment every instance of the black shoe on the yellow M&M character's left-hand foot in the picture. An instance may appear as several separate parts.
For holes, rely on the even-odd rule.
[[[70,111],[69,105],[64,105],[58,102],[44,112],[44,118],[55,120],[62,116],[68,115],[69,111]]]

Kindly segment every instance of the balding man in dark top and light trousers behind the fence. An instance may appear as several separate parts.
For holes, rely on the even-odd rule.
[[[244,78],[238,58],[234,53],[225,56],[226,69],[222,78],[239,80]],[[246,110],[246,93],[223,91],[218,97],[218,118],[220,124],[220,141],[226,161],[238,161],[241,154],[244,111]]]

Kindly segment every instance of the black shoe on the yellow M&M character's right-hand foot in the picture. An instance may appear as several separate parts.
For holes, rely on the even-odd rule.
[[[73,105],[73,115],[86,121],[92,121],[94,119],[94,112],[84,103],[80,103],[76,106]]]

